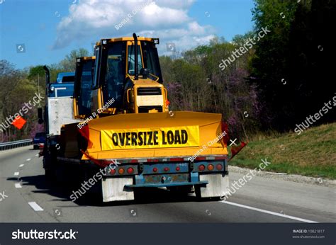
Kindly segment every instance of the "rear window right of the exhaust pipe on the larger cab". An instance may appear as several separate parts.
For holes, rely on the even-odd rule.
[[[149,69],[150,73],[159,77],[159,82],[162,83],[162,74],[159,66],[159,55],[157,54],[157,48],[153,42],[143,41],[141,42],[143,52],[143,62],[145,68]]]

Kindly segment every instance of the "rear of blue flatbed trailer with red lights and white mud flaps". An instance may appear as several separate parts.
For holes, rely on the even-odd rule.
[[[194,187],[198,198],[220,197],[228,190],[227,155],[198,156],[194,161],[190,156],[104,160],[57,157],[57,162],[67,166],[68,172],[72,165],[73,173],[83,174],[83,182],[99,182],[103,202],[133,200],[137,188]],[[95,176],[99,172],[98,181]]]

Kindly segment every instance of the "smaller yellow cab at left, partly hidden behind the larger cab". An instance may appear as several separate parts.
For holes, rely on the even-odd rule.
[[[87,118],[91,114],[91,87],[96,57],[76,60],[74,78],[74,118]]]

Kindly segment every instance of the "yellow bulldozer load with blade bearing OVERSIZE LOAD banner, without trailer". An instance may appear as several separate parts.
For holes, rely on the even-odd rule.
[[[135,34],[103,39],[95,57],[77,59],[74,108],[84,122],[62,128],[62,140],[69,142],[65,157],[192,156],[208,142],[213,144],[203,154],[228,154],[226,142],[213,140],[223,133],[222,115],[168,113],[157,43]]]

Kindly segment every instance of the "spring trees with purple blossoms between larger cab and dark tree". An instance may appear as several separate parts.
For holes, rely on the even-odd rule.
[[[247,136],[247,132],[255,132],[259,126],[259,105],[255,88],[246,79],[253,50],[237,58],[224,71],[218,67],[222,59],[239,47],[235,42],[215,38],[209,45],[184,52],[184,59],[160,57],[162,76],[171,102],[169,109],[222,113],[223,119],[229,123],[231,135],[235,137],[242,138]],[[248,119],[245,111],[249,114]]]

